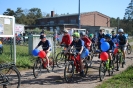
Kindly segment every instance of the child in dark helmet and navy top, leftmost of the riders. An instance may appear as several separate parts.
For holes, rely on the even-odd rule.
[[[50,45],[50,42],[49,40],[46,39],[46,35],[40,35],[40,39],[41,41],[38,43],[38,45],[36,46],[35,49],[37,49],[39,46],[42,46],[42,49],[43,51],[45,51],[46,53],[46,60],[47,60],[47,63],[48,63],[48,69],[49,69],[49,56],[50,56],[50,53],[51,53],[51,45]]]

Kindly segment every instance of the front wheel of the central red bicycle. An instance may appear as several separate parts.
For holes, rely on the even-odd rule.
[[[74,62],[68,61],[65,65],[64,69],[64,78],[67,83],[71,82],[73,80],[74,75]]]

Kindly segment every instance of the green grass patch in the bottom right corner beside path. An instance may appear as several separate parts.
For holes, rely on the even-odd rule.
[[[104,81],[96,88],[132,88],[133,87],[133,66],[130,66],[126,71],[113,76],[111,79]]]

